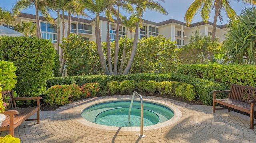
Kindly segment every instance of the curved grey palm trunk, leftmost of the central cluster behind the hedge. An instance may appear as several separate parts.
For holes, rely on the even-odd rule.
[[[108,71],[108,66],[106,63],[106,59],[104,57],[103,49],[102,49],[102,44],[101,44],[101,38],[100,38],[100,27],[99,27],[99,14],[96,14],[95,17],[95,36],[96,36],[96,45],[97,45],[97,51],[98,51],[98,56],[100,59],[100,65],[102,67],[102,71],[105,75],[110,75]]]

